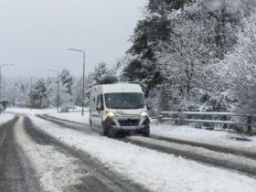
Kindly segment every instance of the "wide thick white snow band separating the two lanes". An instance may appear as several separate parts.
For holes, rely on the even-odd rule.
[[[256,180],[249,176],[126,144],[98,134],[89,135],[63,129],[35,116],[30,118],[40,129],[61,142],[89,153],[120,175],[154,191],[254,192],[256,188]]]

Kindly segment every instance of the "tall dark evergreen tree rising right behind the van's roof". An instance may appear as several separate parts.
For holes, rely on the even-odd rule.
[[[165,78],[156,54],[165,48],[165,43],[173,36],[168,18],[177,9],[183,8],[188,0],[150,0],[146,6],[146,16],[134,29],[132,48],[127,53],[136,56],[123,69],[123,79],[137,81],[144,87],[145,95],[159,88]],[[135,69],[135,70],[134,70]]]

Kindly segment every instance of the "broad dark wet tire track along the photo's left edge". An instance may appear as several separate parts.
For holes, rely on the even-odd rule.
[[[40,191],[35,172],[14,135],[18,117],[0,126],[0,191]]]

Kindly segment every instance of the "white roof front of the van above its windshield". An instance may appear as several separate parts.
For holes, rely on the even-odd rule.
[[[139,84],[135,83],[113,83],[98,85],[102,88],[102,92],[143,92]],[[98,87],[97,86],[97,87]]]

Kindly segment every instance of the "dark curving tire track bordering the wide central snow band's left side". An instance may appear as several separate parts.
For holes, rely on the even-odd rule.
[[[75,148],[62,144],[48,133],[40,131],[29,118],[25,117],[25,129],[27,133],[37,142],[37,144],[50,144],[59,148],[59,151],[66,155],[80,159],[83,167],[86,169],[88,176],[82,179],[82,183],[75,188],[78,191],[147,191],[133,182],[124,180],[109,169],[105,168],[98,160]]]

